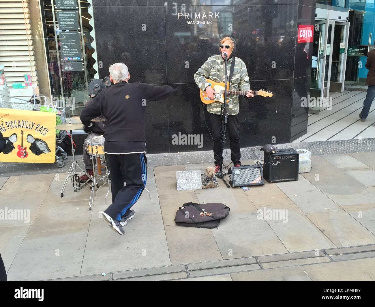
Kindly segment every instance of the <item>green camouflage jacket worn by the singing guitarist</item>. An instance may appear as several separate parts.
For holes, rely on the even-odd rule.
[[[228,79],[229,79],[229,69],[233,58],[228,60],[227,69],[228,69]],[[194,74],[195,83],[201,88],[204,89],[207,85],[206,79],[211,79],[215,82],[224,81],[224,59],[221,54],[216,56],[211,56],[207,59],[206,62],[202,65],[201,68]],[[240,58],[236,57],[236,62],[234,64],[234,71],[232,76],[232,81],[229,84],[229,90],[250,90],[249,76],[246,69],[246,65]],[[246,96],[245,96],[246,97]],[[240,107],[240,98],[239,95],[228,95],[228,114],[236,115],[239,112]],[[207,105],[207,111],[212,114],[220,114],[222,104],[220,102],[214,102]]]

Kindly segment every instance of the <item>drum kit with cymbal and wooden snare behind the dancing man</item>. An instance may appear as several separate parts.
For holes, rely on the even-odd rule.
[[[89,138],[89,140],[87,140],[86,151],[87,151],[87,154],[89,154],[90,157],[91,157],[90,160],[92,162],[93,172],[94,172],[94,175],[90,176],[86,172],[86,170],[84,170],[77,163],[77,161],[75,159],[75,149],[74,149],[74,141],[73,141],[73,133],[72,132],[74,130],[84,129],[84,125],[79,120],[79,117],[72,117],[72,119],[76,122],[72,123],[71,118],[69,118],[69,123],[63,123],[63,124],[55,126],[55,129],[70,131],[70,138],[71,138],[71,143],[72,143],[72,155],[73,155],[73,163],[69,168],[68,176],[65,179],[63,188],[61,190],[60,197],[64,196],[64,190],[66,188],[66,185],[68,184],[69,178],[71,178],[71,182],[73,182],[74,192],[77,192],[78,190],[83,188],[84,184],[90,185],[88,182],[91,180],[92,184],[90,185],[91,193],[90,193],[90,200],[89,200],[89,210],[91,210],[93,202],[94,202],[94,191],[97,191],[99,188],[103,187],[106,182],[108,182],[108,192],[107,192],[107,195],[105,196],[105,198],[107,198],[108,193],[110,192],[110,178],[109,178],[110,172],[108,171],[107,161],[105,159],[105,152],[104,152],[105,138],[102,135],[98,135],[98,136],[93,137],[92,134],[90,134],[91,137]],[[105,119],[103,119],[101,117],[96,117],[96,118],[92,119],[91,121],[92,122],[104,122]],[[83,153],[83,154],[85,154],[85,153]],[[96,173],[96,170],[95,170],[95,164],[94,164],[95,159],[98,160],[98,173]],[[102,165],[105,167],[105,174],[104,175],[101,174],[101,166]],[[86,182],[84,182],[83,184],[81,184],[81,182],[79,180],[79,175],[77,174],[77,168],[80,169],[82,172],[84,172],[89,177],[89,179]],[[104,182],[104,184],[102,184],[99,187],[100,182]]]

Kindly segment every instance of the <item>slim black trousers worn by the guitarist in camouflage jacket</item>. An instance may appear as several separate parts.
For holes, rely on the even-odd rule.
[[[210,114],[211,126],[212,126],[212,137],[213,137],[213,157],[215,164],[220,165],[223,163],[223,136],[222,136],[222,124],[224,118],[222,115]],[[241,164],[241,151],[240,151],[240,121],[239,114],[229,115],[226,123],[226,131],[229,135],[229,141],[231,144],[231,159],[233,165]]]

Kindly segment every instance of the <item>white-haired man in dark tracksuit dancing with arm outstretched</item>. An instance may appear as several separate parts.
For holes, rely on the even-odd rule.
[[[130,74],[123,63],[111,65],[109,71],[114,85],[100,92],[82,110],[80,119],[86,126],[100,114],[107,119],[104,152],[111,173],[112,205],[102,214],[115,232],[124,235],[122,227],[134,217],[134,210],[130,208],[141,196],[147,180],[147,102],[168,98],[177,89],[168,85],[127,83]]]

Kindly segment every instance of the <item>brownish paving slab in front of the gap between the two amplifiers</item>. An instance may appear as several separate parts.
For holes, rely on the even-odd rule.
[[[292,202],[275,183],[270,184],[266,180],[264,185],[252,186],[245,193],[256,207]]]

